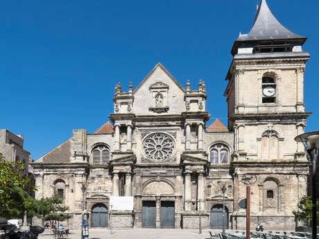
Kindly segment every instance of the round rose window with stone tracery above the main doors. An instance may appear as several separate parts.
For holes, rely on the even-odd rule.
[[[173,155],[175,141],[165,133],[153,133],[144,139],[143,151],[145,156],[153,161],[164,161]]]

